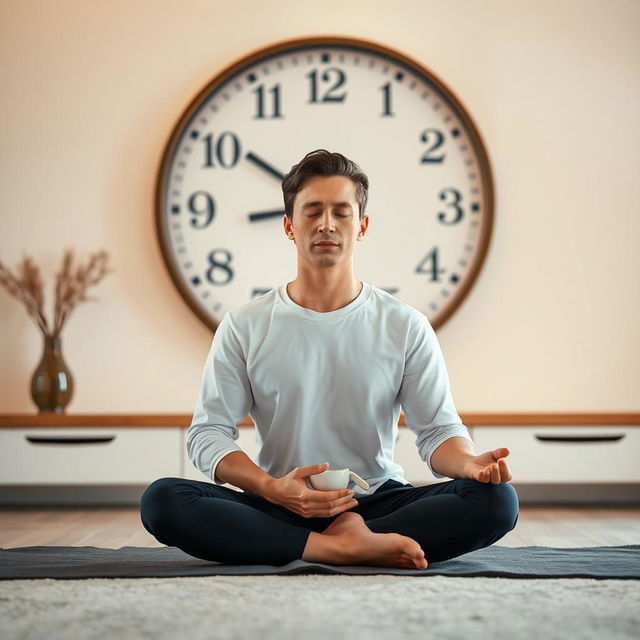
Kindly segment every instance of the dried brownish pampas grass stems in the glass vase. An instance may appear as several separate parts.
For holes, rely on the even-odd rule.
[[[17,275],[0,261],[0,285],[10,295],[20,300],[27,313],[45,336],[57,338],[78,302],[97,300],[89,298],[86,291],[112,269],[107,268],[109,254],[98,251],[90,255],[87,264],[73,265],[73,250],[67,249],[62,260],[62,268],[56,274],[53,326],[50,328],[44,314],[44,286],[40,277],[40,269],[29,256],[25,256],[18,265]]]

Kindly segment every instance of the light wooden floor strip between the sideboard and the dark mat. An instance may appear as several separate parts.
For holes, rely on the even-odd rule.
[[[592,547],[640,544],[640,508],[520,507],[509,547]],[[40,545],[160,547],[136,507],[1,508],[0,547]]]

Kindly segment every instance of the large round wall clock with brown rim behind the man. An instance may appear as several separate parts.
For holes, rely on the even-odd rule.
[[[369,177],[354,275],[437,329],[470,291],[493,226],[493,180],[460,100],[422,64],[371,41],[288,40],[220,71],[167,141],[156,182],[164,261],[194,313],[222,316],[296,277],[281,180],[306,153]]]

